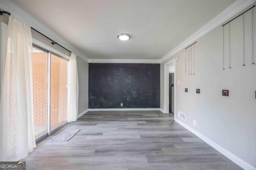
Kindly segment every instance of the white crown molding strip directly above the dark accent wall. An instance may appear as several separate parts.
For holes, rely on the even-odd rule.
[[[90,59],[89,63],[150,63],[159,64],[160,60],[140,60],[140,59]]]

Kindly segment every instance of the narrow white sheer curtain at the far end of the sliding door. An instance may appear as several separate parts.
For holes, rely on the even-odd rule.
[[[68,111],[68,122],[76,121],[78,115],[78,74],[76,55],[71,53],[70,63],[70,110]]]

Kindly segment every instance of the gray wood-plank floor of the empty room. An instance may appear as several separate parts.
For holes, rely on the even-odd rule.
[[[50,143],[81,129],[67,143]],[[160,111],[91,111],[40,143],[27,170],[237,170],[231,160]]]

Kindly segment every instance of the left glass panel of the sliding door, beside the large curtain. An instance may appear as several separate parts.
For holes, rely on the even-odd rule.
[[[47,55],[33,47],[33,109],[35,138],[47,133]]]

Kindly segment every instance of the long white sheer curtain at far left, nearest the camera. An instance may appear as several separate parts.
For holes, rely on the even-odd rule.
[[[35,147],[30,27],[10,16],[0,101],[0,161],[17,161]]]

